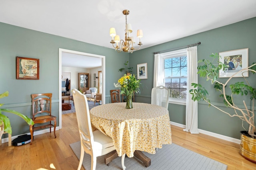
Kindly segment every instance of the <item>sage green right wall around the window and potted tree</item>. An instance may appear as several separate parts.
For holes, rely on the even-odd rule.
[[[253,62],[256,62],[255,28],[256,18],[251,18],[249,20],[240,21],[203,33],[142,49],[130,54],[130,66],[135,68],[133,72],[136,72],[136,64],[148,63],[148,79],[141,80],[143,88],[141,89],[141,94],[138,95],[140,97],[136,97],[136,102],[150,103],[149,99],[151,89],[153,88],[154,72],[153,52],[165,51],[201,42],[201,45],[198,46],[198,60],[200,60],[208,58],[212,53],[249,48],[248,63],[250,65]],[[226,78],[221,79],[225,80]],[[251,84],[256,84],[256,79],[251,73],[249,74],[248,79]],[[234,78],[233,81],[244,81],[244,79]],[[212,86],[210,81],[206,82],[205,79],[202,78],[198,78],[198,82],[203,86]],[[216,93],[213,88],[208,88],[208,92],[211,94],[211,102],[223,106],[222,99],[218,98],[219,94]],[[226,107],[222,108],[226,109]],[[169,104],[168,110],[171,121],[185,125],[186,106]],[[233,112],[232,109],[226,110],[230,111],[230,113]],[[208,104],[202,102],[199,102],[198,104],[198,128],[237,139],[240,139],[240,131],[243,130],[242,121],[240,119],[229,117],[213,107],[208,108]]]

